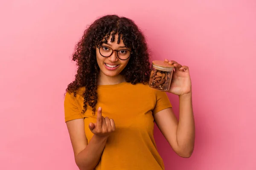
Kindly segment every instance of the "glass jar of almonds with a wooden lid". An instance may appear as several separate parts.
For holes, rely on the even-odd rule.
[[[168,62],[161,60],[154,60],[151,65],[149,87],[169,91],[174,66]]]

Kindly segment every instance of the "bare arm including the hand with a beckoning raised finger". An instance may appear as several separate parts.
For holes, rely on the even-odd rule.
[[[83,119],[67,121],[67,128],[77,166],[80,170],[93,170],[99,163],[108,136],[115,130],[113,119],[104,118],[101,108],[98,109],[97,122],[89,125],[94,134],[89,144],[84,132]]]

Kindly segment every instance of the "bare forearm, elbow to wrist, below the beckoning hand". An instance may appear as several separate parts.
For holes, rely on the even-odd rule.
[[[93,135],[88,145],[76,157],[76,164],[80,170],[93,170],[99,162],[107,137]]]

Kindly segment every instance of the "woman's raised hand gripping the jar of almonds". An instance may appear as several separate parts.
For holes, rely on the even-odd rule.
[[[189,94],[192,92],[191,88],[191,79],[189,75],[189,68],[185,65],[180,65],[176,61],[169,61],[165,59],[165,62],[169,62],[169,64],[173,64],[175,67],[175,71],[172,74],[171,86],[169,93],[176,95]]]

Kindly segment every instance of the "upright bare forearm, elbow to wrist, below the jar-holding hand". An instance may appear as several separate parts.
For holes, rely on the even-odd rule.
[[[190,156],[195,143],[195,121],[192,108],[192,94],[179,96],[180,116],[177,126],[177,147],[181,154]]]

